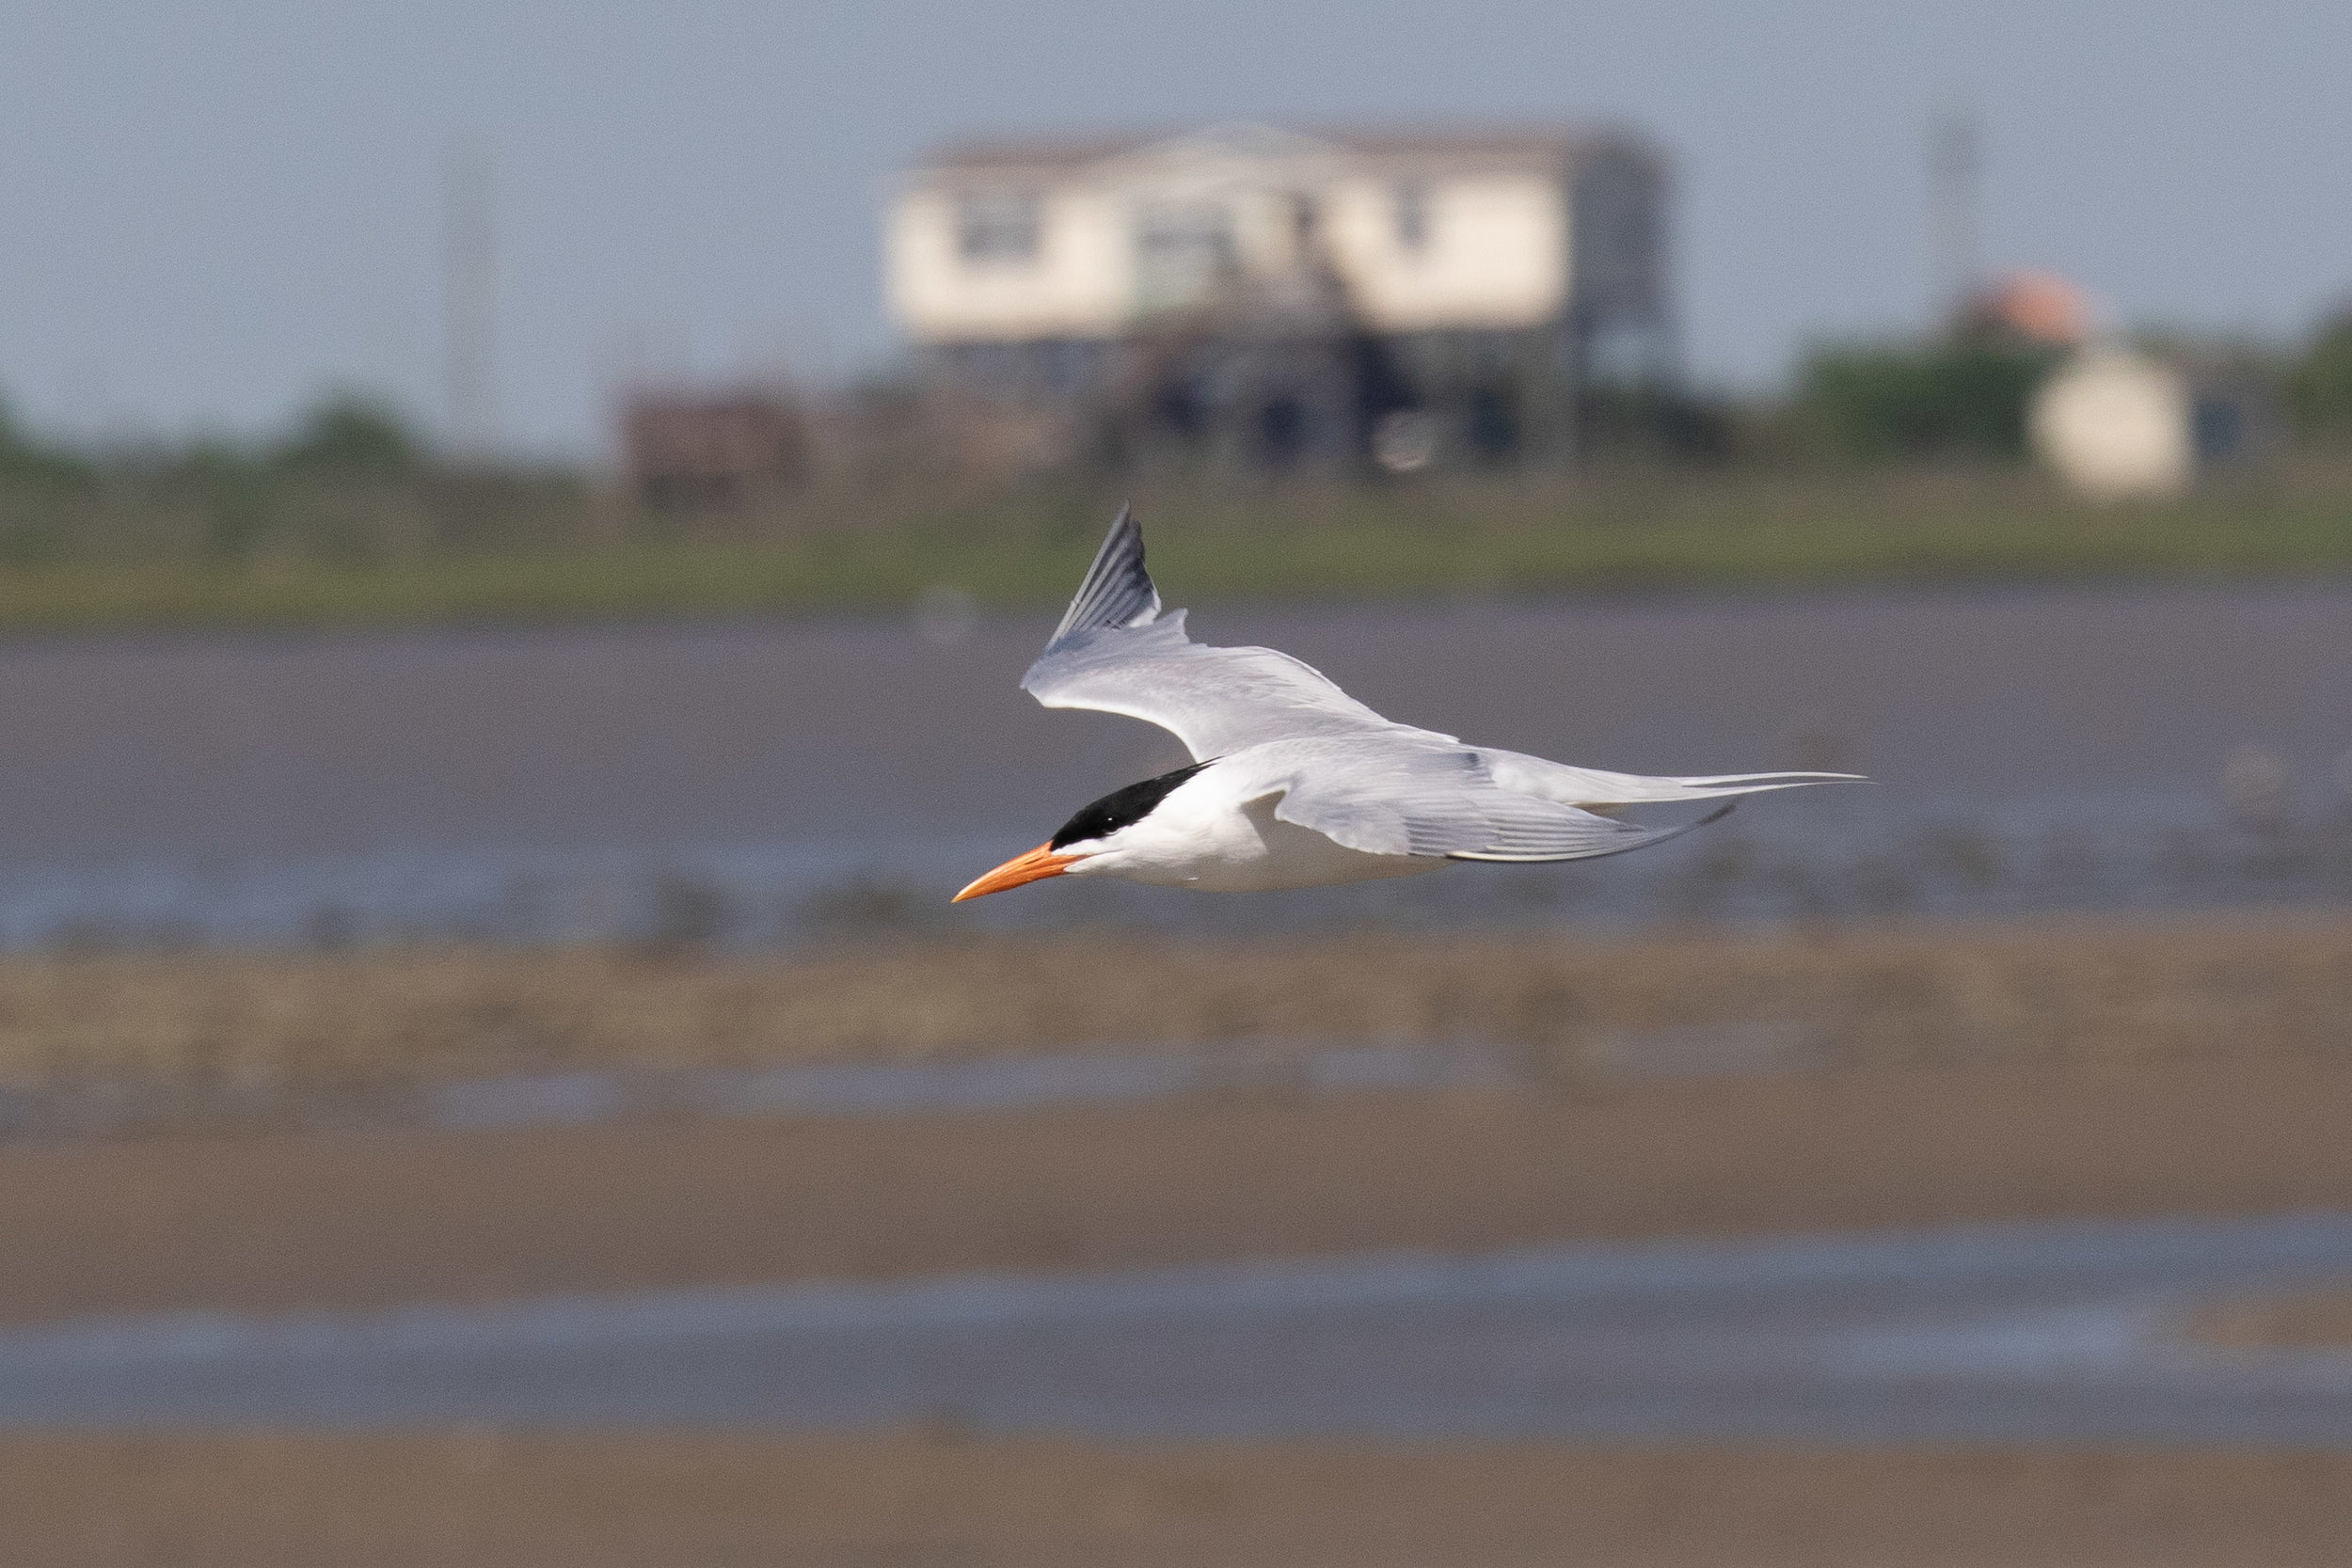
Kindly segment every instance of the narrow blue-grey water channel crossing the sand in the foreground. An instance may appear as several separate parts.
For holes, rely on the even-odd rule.
[[[2352,1356],[2180,1340],[2352,1215],[2011,1222],[0,1331],[0,1425],[2352,1446]]]

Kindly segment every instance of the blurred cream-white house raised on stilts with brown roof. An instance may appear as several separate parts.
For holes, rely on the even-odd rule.
[[[1590,132],[964,146],[891,202],[887,292],[943,381],[1129,449],[1548,451],[1581,388],[1672,369],[1663,205]]]

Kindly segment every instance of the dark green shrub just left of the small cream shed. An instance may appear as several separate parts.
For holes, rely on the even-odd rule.
[[[1797,409],[1849,458],[2013,458],[2025,451],[2025,409],[2056,357],[1997,339],[1823,348],[1797,374]]]

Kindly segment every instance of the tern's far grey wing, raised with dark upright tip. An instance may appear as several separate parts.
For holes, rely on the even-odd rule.
[[[1143,569],[1143,529],[1129,508],[1120,508],[1021,689],[1047,708],[1094,708],[1157,724],[1197,762],[1261,741],[1428,733],[1383,719],[1289,654],[1192,642],[1183,611],[1160,609],[1160,590]]]

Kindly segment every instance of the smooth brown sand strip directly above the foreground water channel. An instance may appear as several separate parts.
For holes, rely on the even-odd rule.
[[[0,1321],[2352,1208],[2352,1063],[0,1150]]]

